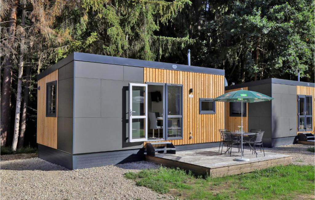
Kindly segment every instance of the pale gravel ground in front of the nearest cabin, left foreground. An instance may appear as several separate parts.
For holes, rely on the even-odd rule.
[[[1,199],[172,199],[124,178],[146,161],[67,170],[39,158],[1,161]]]

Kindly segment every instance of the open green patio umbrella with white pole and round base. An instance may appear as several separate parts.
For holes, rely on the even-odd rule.
[[[242,117],[241,154],[242,154],[242,158],[235,158],[236,161],[249,161],[248,158],[243,158],[243,103],[263,102],[263,101],[270,101],[272,99],[273,99],[272,97],[269,97],[267,95],[261,94],[259,92],[243,90],[243,88],[241,90],[225,93],[214,99],[214,101],[240,102],[241,103],[241,117]]]

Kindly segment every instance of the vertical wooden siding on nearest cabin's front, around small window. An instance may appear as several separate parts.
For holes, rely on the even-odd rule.
[[[215,114],[199,114],[199,98],[215,98],[224,94],[223,75],[144,68],[144,82],[183,85],[183,139],[168,142],[184,145],[220,141],[219,129],[224,128],[225,120],[224,103],[215,103]],[[193,89],[192,98],[188,97],[190,88]]]

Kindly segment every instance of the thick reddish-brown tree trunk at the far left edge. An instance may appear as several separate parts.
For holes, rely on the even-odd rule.
[[[8,15],[8,48],[11,48],[14,43],[14,35],[15,35],[15,27],[16,27],[16,11],[17,11],[18,1],[14,0],[10,13]],[[9,119],[10,119],[10,98],[11,98],[11,71],[12,71],[12,53],[6,56],[3,62],[3,82],[2,82],[2,94],[1,94],[1,105],[0,105],[0,118],[1,118],[1,146],[5,145],[7,135],[8,135],[8,127],[9,127]]]

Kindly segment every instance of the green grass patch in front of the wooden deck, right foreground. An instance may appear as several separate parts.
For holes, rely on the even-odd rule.
[[[181,199],[292,199],[314,195],[314,166],[309,165],[277,166],[220,178],[194,177],[184,170],[160,167],[128,172],[125,177],[138,186]]]

